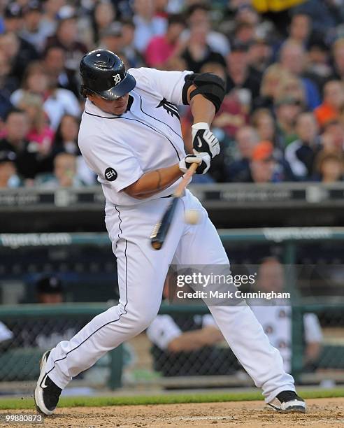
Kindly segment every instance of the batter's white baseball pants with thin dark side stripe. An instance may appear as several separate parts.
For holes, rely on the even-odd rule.
[[[136,336],[155,319],[162,301],[166,273],[177,264],[229,264],[206,210],[187,191],[178,203],[162,250],[153,250],[149,236],[171,199],[136,206],[106,206],[106,227],[117,257],[120,302],[97,315],[70,341],[50,352],[48,375],[61,388],[91,367],[109,350]],[[185,209],[200,212],[199,224],[185,224]],[[220,330],[234,354],[261,387],[266,402],[283,390],[294,391],[294,379],[248,306],[212,306]]]

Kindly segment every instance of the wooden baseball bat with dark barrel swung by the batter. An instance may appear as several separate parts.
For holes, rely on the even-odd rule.
[[[182,181],[180,181],[177,189],[173,193],[172,201],[166,208],[166,211],[162,216],[162,220],[155,224],[152,234],[150,235],[150,244],[155,250],[160,250],[160,248],[162,248],[162,245],[164,245],[164,241],[166,239],[167,233],[169,232],[169,228],[171,226],[171,222],[173,220],[175,208],[178,204],[178,199],[182,197],[185,187],[187,187],[189,179],[194,175],[197,166],[199,166],[199,164],[191,164],[185,175],[182,177]]]

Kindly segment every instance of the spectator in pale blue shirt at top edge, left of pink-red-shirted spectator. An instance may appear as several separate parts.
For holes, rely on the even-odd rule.
[[[155,15],[154,0],[134,0],[134,46],[138,52],[145,49],[153,36],[162,36],[166,32],[166,17]]]

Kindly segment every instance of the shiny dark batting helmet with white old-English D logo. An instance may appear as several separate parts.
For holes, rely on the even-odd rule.
[[[80,61],[81,87],[104,99],[123,97],[136,86],[136,80],[127,73],[122,59],[106,49],[88,52]]]

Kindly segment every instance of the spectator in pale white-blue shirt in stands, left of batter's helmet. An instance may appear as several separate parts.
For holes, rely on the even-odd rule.
[[[80,106],[76,96],[69,90],[56,87],[57,82],[50,80],[43,63],[32,62],[25,72],[22,88],[13,92],[10,101],[19,106],[24,94],[38,94],[43,102],[43,109],[50,120],[50,127],[56,129],[65,113],[80,115]]]

